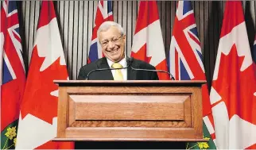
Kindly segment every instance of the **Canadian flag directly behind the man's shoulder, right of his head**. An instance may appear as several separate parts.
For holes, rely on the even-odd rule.
[[[168,71],[156,1],[140,2],[131,56],[157,70]],[[157,72],[157,75],[162,80],[170,79],[166,73]]]

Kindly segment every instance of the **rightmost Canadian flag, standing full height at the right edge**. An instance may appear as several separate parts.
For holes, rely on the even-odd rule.
[[[227,1],[211,87],[215,144],[256,148],[256,79],[242,2]]]

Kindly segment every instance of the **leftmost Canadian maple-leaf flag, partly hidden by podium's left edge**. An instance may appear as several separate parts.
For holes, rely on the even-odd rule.
[[[58,87],[53,80],[68,79],[56,15],[51,1],[41,2],[29,73],[21,102],[16,148],[74,148],[56,137]]]

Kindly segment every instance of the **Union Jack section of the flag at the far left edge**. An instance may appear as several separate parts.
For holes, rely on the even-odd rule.
[[[21,37],[19,35],[16,2],[4,1],[2,3],[1,17],[1,51],[3,52],[2,84],[4,84],[17,79],[14,68],[10,63],[14,57],[8,56],[10,48],[14,48],[16,51],[17,58],[21,61],[20,63],[24,69],[24,72],[25,67],[21,56]]]

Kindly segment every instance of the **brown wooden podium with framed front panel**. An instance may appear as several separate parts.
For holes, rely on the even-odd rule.
[[[206,81],[64,81],[54,140],[206,141]]]

